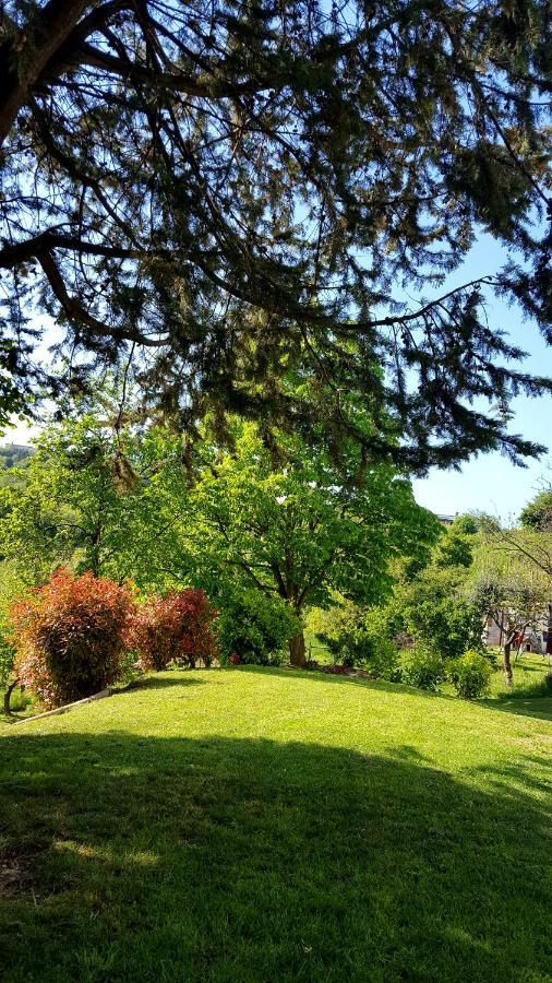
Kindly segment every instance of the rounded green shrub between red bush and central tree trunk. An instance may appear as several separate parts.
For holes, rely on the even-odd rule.
[[[226,664],[236,653],[245,664],[279,665],[288,639],[299,630],[298,619],[279,597],[259,591],[231,594],[220,602],[218,615],[220,661]]]

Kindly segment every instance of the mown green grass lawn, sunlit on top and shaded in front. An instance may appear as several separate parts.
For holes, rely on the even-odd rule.
[[[551,980],[551,747],[514,700],[255,667],[3,724],[2,979]]]

